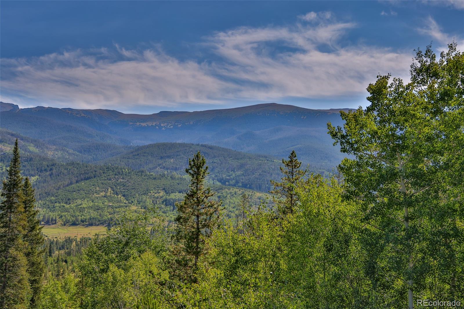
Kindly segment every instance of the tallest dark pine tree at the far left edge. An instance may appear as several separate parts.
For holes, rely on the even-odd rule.
[[[0,308],[26,308],[29,295],[23,180],[20,175],[18,139],[14,143],[13,159],[3,181],[0,204]]]

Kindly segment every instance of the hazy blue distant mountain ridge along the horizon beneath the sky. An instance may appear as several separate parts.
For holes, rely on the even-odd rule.
[[[327,122],[342,125],[338,109],[305,109],[266,103],[232,109],[138,115],[107,109],[40,106],[7,109],[3,107],[5,104],[9,103],[2,103],[2,128],[74,151],[92,143],[144,145],[157,142],[212,144],[280,158],[296,150],[305,163],[326,170],[335,167],[343,158],[327,134]]]

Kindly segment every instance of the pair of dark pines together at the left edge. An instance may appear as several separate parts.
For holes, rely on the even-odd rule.
[[[44,276],[44,238],[37,219],[34,190],[21,176],[19,143],[3,181],[0,204],[0,306],[35,307]]]

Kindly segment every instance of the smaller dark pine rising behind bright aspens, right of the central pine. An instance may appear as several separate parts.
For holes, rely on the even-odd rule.
[[[271,180],[274,190],[271,193],[278,211],[282,215],[293,213],[299,200],[295,189],[302,183],[307,170],[301,170],[301,162],[296,158],[296,152],[293,150],[289,155],[289,160],[282,159],[285,167],[280,167],[280,171],[285,175],[281,182]]]

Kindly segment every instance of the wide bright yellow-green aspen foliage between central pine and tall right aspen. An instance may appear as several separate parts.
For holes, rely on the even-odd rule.
[[[213,233],[198,283],[178,290],[185,308],[365,308],[362,251],[354,204],[335,180],[313,175],[296,188],[293,213],[250,213]]]

